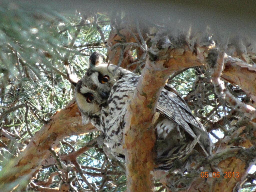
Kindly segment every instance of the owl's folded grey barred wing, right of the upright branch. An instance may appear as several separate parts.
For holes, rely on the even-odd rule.
[[[169,89],[169,86],[165,88]],[[163,89],[157,102],[156,111],[176,122],[194,139],[200,135],[198,144],[208,156],[211,154],[211,140],[204,126],[193,116],[184,99],[175,89]],[[173,91],[175,90],[175,91]]]

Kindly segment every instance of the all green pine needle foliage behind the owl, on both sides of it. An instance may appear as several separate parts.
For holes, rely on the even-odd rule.
[[[0,7],[0,15],[1,170],[10,159],[21,153],[34,133],[73,98],[73,87],[67,80],[64,63],[68,62],[81,78],[88,68],[90,54],[99,51],[107,55],[107,51],[92,24],[94,13],[60,14],[48,7],[37,9],[31,4],[6,3]],[[111,13],[96,15],[107,39],[111,31]],[[136,51],[133,57],[136,58]],[[217,121],[226,115],[223,111],[230,111],[227,105],[219,104],[210,76],[203,67],[179,71],[170,77],[169,83],[188,103],[194,102],[189,106],[204,124],[209,119]],[[240,100],[246,98],[239,87],[228,86]],[[224,126],[225,129],[230,127],[228,122]],[[217,131],[220,134],[223,129]],[[87,147],[88,143],[99,139],[99,135],[99,132],[93,132],[65,138],[59,144],[57,156]],[[218,136],[214,137],[218,141]],[[125,162],[111,159],[102,145],[94,143],[88,146],[88,150],[77,157],[77,163],[82,173],[74,168],[74,162],[55,161],[43,166],[30,184],[27,185],[26,178],[23,178],[13,186],[17,183],[27,185],[16,191],[59,188],[64,184],[76,192],[91,191],[91,187],[95,191],[126,190]],[[159,191],[164,190],[160,185],[156,186]],[[250,186],[241,191],[254,189]]]

